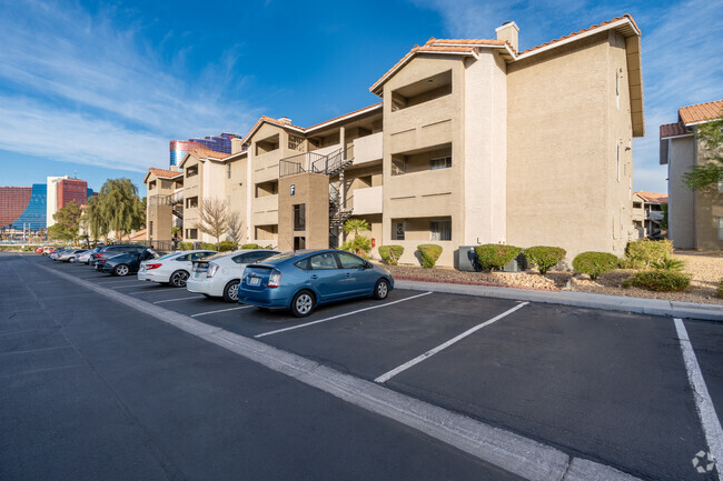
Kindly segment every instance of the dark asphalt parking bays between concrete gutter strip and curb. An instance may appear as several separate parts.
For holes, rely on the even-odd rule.
[[[296,319],[82,264],[22,262],[40,289],[68,282],[38,265],[70,273],[641,479],[719,479],[692,464],[710,437],[671,318],[397,289]],[[721,413],[723,324],[683,325]]]

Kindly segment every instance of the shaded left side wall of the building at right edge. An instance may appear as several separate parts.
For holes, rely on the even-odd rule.
[[[668,140],[667,237],[676,249],[695,249],[695,194],[683,183],[683,174],[695,163],[692,137]]]

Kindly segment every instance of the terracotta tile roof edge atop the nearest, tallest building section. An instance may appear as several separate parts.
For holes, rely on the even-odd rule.
[[[369,91],[372,93],[379,94],[380,87],[405,63],[407,63],[412,58],[418,53],[447,53],[447,54],[475,54],[475,50],[478,48],[497,48],[505,50],[505,58],[507,61],[516,61],[523,58],[526,58],[529,54],[537,53],[537,51],[547,50],[548,48],[557,47],[558,44],[567,43],[567,40],[574,40],[576,37],[586,36],[590,33],[596,33],[596,30],[606,30],[608,28],[621,29],[623,34],[626,37],[630,36],[640,36],[641,30],[637,28],[633,17],[625,13],[621,17],[615,17],[612,20],[606,20],[602,23],[591,26],[586,29],[578,30],[576,32],[570,33],[567,36],[561,37],[558,39],[551,40],[548,42],[542,43],[539,46],[529,48],[521,53],[516,53],[513,47],[504,40],[492,40],[492,39],[435,39],[434,37],[427,40],[427,42],[419,47],[414,46],[397,63],[394,64],[387,72],[379,78],[372,87]]]

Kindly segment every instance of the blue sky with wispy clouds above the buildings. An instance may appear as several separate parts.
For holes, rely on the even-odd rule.
[[[77,171],[93,189],[117,177],[140,188],[168,167],[169,140],[375,103],[369,86],[429,37],[494,38],[514,20],[525,49],[623,13],[643,32],[634,188],[665,191],[658,126],[723,98],[720,0],[0,0],[0,186]]]

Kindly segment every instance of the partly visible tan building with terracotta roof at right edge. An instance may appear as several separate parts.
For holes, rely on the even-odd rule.
[[[723,182],[693,191],[683,176],[710,162],[699,126],[723,118],[723,100],[682,107],[677,122],[661,126],[661,164],[667,164],[668,232],[677,249],[723,249]],[[720,153],[720,152],[719,152]]]

